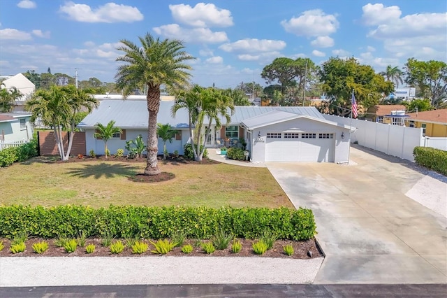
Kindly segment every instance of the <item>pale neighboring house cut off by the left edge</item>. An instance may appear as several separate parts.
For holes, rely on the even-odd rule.
[[[33,138],[29,113],[0,113],[0,150],[5,144],[26,142]]]

